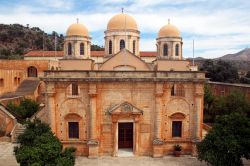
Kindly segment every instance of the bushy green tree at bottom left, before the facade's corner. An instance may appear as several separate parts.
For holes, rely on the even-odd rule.
[[[75,163],[75,148],[63,151],[61,142],[53,135],[49,125],[40,120],[28,122],[17,141],[20,146],[15,147],[14,152],[21,166],[73,166]]]

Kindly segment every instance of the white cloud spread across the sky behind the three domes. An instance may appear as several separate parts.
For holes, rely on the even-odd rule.
[[[204,9],[181,7],[154,7],[161,4],[187,4],[203,2],[204,0],[137,0],[132,1],[133,5],[128,5],[125,9],[132,15],[138,25],[142,36],[140,40],[141,50],[154,51],[155,38],[159,29],[167,24],[168,18],[176,25],[183,36],[184,56],[192,56],[192,39],[195,39],[196,56],[216,57],[231,51],[241,49],[243,45],[250,45],[250,17],[249,10],[241,10],[237,7],[203,11]],[[40,1],[39,1],[40,2]],[[99,0],[98,0],[99,2]],[[101,2],[101,1],[100,1]],[[19,5],[12,9],[12,12],[0,14],[0,20],[5,24],[20,23],[23,25],[37,26],[51,33],[57,31],[65,33],[67,27],[80,19],[84,23],[94,38],[92,43],[103,45],[104,31],[108,20],[117,12],[119,4],[131,2],[130,0],[107,0],[102,1],[101,8],[93,8],[90,11],[76,12],[42,12],[49,8],[70,9],[74,7],[73,1],[66,0],[45,0],[41,1],[42,7]],[[114,4],[116,7],[102,4]],[[105,12],[104,12],[105,11]],[[243,49],[243,48],[242,48]]]

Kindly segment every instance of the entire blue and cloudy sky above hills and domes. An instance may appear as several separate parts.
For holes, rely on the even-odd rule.
[[[250,47],[249,0],[0,0],[0,23],[39,27],[64,34],[77,18],[90,31],[92,44],[104,45],[112,16],[133,16],[141,32],[140,50],[156,51],[160,28],[178,27],[184,57],[216,58]]]

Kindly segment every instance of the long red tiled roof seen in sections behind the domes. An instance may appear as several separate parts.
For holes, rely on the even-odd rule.
[[[92,57],[104,57],[105,52],[104,51],[91,51]],[[157,52],[153,51],[141,51],[140,56],[141,57],[156,57]],[[27,54],[24,55],[25,57],[63,57],[64,52],[63,51],[30,51]]]

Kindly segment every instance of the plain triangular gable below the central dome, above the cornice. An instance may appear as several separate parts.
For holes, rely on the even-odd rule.
[[[107,59],[99,70],[118,70],[118,71],[149,71],[148,64],[140,57],[123,49],[114,56]]]

